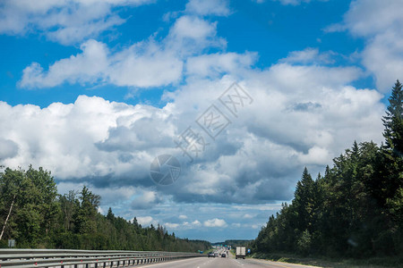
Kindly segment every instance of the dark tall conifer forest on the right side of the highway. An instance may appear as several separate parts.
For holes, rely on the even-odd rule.
[[[294,199],[271,215],[253,251],[330,257],[403,253],[403,92],[392,88],[384,142],[357,144],[313,180],[305,168]]]

